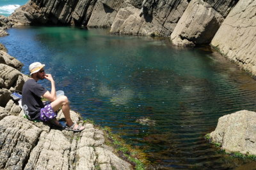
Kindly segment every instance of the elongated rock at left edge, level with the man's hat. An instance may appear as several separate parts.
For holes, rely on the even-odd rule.
[[[0,63],[6,64],[18,70],[20,70],[23,66],[23,64],[19,60],[15,59],[3,50],[0,50]]]

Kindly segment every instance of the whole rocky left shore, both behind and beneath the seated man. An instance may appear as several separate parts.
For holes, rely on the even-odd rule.
[[[24,118],[19,104],[10,97],[28,80],[20,73],[21,67],[19,60],[0,50],[0,169],[134,168],[106,145],[105,131],[83,121],[74,111],[70,113],[72,120],[86,127],[82,132],[60,131]]]

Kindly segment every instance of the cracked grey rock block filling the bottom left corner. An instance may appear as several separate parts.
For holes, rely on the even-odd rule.
[[[0,121],[0,168],[22,169],[41,132],[24,118],[4,117]]]

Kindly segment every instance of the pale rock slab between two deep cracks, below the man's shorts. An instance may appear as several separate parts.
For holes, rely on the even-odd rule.
[[[70,141],[61,131],[42,132],[25,169],[67,169]]]

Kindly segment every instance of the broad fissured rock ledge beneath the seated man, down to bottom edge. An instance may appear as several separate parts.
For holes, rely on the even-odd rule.
[[[74,117],[74,112],[71,113]],[[76,114],[75,114],[76,115]],[[104,145],[104,133],[51,129],[42,122],[6,116],[0,121],[1,169],[132,169]]]

